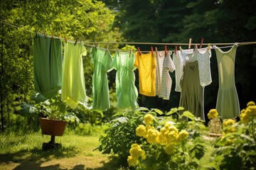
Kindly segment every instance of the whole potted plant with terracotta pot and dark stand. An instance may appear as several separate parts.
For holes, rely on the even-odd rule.
[[[41,94],[33,94],[31,103],[21,104],[18,111],[22,114],[39,114],[39,123],[43,135],[50,135],[50,142],[43,143],[43,149],[52,148],[55,136],[62,136],[68,122],[79,122],[79,118],[60,99],[61,92],[52,98],[45,98]],[[50,146],[48,146],[50,145]]]

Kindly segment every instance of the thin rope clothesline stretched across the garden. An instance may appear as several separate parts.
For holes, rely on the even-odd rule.
[[[27,29],[21,28],[19,26],[15,26],[14,23],[10,23],[8,21],[4,21],[4,20],[0,19],[0,22],[6,24],[8,26],[12,26],[14,28],[24,30],[24,31],[29,32],[29,33],[35,33],[31,30],[27,30]],[[65,40],[65,38],[56,37],[54,35],[47,35],[46,34],[46,36],[53,37],[53,38],[60,38],[60,40]],[[76,41],[76,40],[71,40],[71,39],[67,39],[67,40],[72,41],[72,42]],[[105,44],[105,45],[111,45],[111,44],[119,44],[119,45],[121,45],[121,44],[122,45],[201,45],[201,43],[179,43],[179,42],[174,42],[174,43],[168,43],[168,42],[104,42],[104,41],[100,41],[100,42],[97,42],[97,41],[80,41],[80,42],[82,42],[85,45],[90,46],[90,47],[92,47],[96,44]],[[213,43],[202,43],[202,45],[209,45],[209,44],[210,45],[234,45],[235,43],[237,43],[237,45],[254,45],[254,44],[256,44],[256,41],[254,41],[254,42],[227,42],[227,43],[213,42]],[[93,45],[88,45],[88,44],[93,44]],[[230,46],[228,46],[228,47],[230,47]],[[148,51],[145,51],[145,52],[148,52]]]

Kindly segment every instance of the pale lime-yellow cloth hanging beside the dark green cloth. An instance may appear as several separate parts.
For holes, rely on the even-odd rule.
[[[92,106],[87,103],[82,65],[82,56],[85,56],[87,52],[82,43],[76,42],[74,44],[75,42],[69,41],[65,43],[61,100],[73,109],[79,103],[90,109]]]

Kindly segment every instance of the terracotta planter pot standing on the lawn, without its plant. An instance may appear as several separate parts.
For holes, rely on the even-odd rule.
[[[43,135],[62,136],[67,125],[67,121],[50,120],[48,118],[39,119]]]

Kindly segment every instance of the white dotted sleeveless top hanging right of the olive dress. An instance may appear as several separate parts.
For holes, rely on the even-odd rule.
[[[211,51],[208,48],[196,50],[196,60],[198,60],[199,78],[201,86],[208,86],[212,82],[210,74]]]

